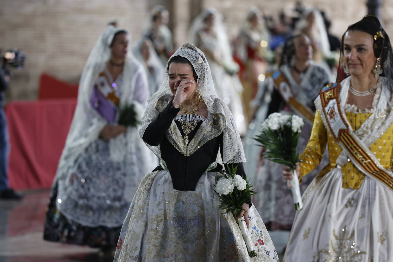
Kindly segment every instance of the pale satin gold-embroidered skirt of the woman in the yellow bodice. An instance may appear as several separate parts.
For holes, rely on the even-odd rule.
[[[393,194],[365,177],[360,189],[342,187],[335,168],[316,177],[296,213],[285,262],[393,261]]]

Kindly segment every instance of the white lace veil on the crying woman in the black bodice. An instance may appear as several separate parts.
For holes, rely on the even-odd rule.
[[[185,57],[191,62],[193,68],[198,75],[197,84],[202,95],[206,106],[208,107],[208,114],[220,114],[224,117],[224,143],[223,143],[223,161],[224,163],[241,163],[245,162],[244,151],[242,147],[242,142],[237,131],[235,121],[233,120],[232,113],[230,112],[228,106],[222,102],[220,97],[216,95],[213,79],[211,78],[211,71],[209,64],[206,60],[204,53],[196,48],[193,44],[184,44],[180,47],[173,55],[174,56]],[[171,57],[171,58],[172,58]],[[170,61],[171,59],[169,59]],[[168,66],[165,68],[166,75],[163,78],[162,87],[158,90],[152,97],[148,100],[148,105],[145,114],[143,115],[142,128],[139,133],[143,137],[143,134],[149,126],[149,124],[156,119],[158,114],[160,114],[160,108],[157,106],[157,102],[161,99],[165,99],[165,103],[169,103],[172,100],[172,93],[169,88],[168,82]],[[161,158],[160,146],[153,147],[148,145],[148,147]]]

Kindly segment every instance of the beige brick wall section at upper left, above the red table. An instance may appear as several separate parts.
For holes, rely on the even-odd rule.
[[[107,22],[118,19],[139,36],[146,9],[142,0],[0,0],[0,48],[27,55],[25,68],[13,70],[8,100],[36,99],[42,72],[77,82]]]

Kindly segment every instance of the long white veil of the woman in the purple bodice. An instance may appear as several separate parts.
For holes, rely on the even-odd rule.
[[[78,102],[72,119],[72,124],[68,132],[66,144],[62,151],[59,166],[56,172],[56,180],[68,175],[67,169],[75,163],[75,160],[95,139],[98,139],[99,133],[108,122],[92,107],[90,97],[93,92],[94,82],[98,78],[98,73],[103,70],[105,62],[110,59],[114,35],[124,29],[107,26],[95,43],[87,62],[83,68],[81,79],[79,81]],[[134,100],[134,90],[137,77],[147,86],[147,77],[141,64],[131,55],[129,51],[124,61],[123,82],[121,87],[120,106],[134,103],[137,110],[145,106]],[[130,136],[129,130],[114,139],[110,139],[110,154],[112,159],[121,161],[127,153],[124,147],[124,139]]]

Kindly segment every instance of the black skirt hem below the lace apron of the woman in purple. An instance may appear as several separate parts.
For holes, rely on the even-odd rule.
[[[121,227],[86,227],[69,220],[56,208],[57,185],[52,189],[44,225],[44,240],[91,247],[116,246]]]

